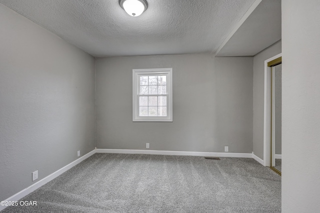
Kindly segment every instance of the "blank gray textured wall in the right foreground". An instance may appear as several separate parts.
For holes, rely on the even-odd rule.
[[[282,0],[282,212],[320,209],[320,1]]]

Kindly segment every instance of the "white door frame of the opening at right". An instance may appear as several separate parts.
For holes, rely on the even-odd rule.
[[[271,85],[272,85],[272,75],[271,67],[267,66],[267,63],[271,60],[274,60],[278,57],[281,57],[281,53],[270,57],[269,59],[264,60],[264,122],[263,122],[263,165],[271,165],[271,141],[272,147],[274,147],[274,133],[272,134],[271,126],[274,128],[274,110],[271,105],[272,94]],[[274,101],[272,101],[274,103]],[[272,114],[271,114],[272,111]],[[271,116],[272,125],[271,125]],[[274,129],[273,129],[274,130]],[[272,153],[274,155],[274,152]],[[272,157],[274,159],[274,156]],[[274,166],[274,160],[272,160],[272,165]]]

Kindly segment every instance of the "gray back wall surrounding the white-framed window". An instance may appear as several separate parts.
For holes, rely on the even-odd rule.
[[[96,59],[97,148],[252,151],[252,57]],[[132,69],[173,68],[173,122],[132,122]]]

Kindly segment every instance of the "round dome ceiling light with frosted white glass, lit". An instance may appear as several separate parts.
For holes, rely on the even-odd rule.
[[[139,16],[148,7],[146,0],[119,0],[119,4],[131,16]]]

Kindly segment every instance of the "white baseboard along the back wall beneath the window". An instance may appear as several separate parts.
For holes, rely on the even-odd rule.
[[[108,148],[97,148],[96,152],[97,153],[121,153],[121,154],[163,154],[163,155],[248,157],[248,158],[252,158],[251,153],[232,153],[232,152],[162,151],[162,150],[108,149]]]

